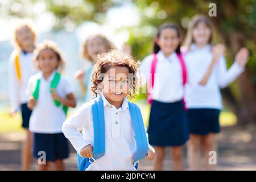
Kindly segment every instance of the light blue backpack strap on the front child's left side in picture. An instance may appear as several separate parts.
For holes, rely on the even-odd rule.
[[[105,154],[105,119],[102,97],[98,97],[92,105],[93,116],[93,158],[100,159]]]

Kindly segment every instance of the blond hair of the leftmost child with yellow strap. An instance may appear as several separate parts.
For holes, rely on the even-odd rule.
[[[28,28],[28,30],[31,32],[33,44],[35,44],[35,40],[36,40],[36,33],[35,33],[34,29],[30,26],[30,24],[28,24],[28,23],[19,24],[19,26],[17,26],[14,30],[13,41],[12,41],[14,47],[16,49],[18,49],[18,51],[20,51],[20,49],[22,49],[22,48],[21,48],[20,43],[18,42],[17,34],[18,34],[19,29],[23,28],[23,27]]]

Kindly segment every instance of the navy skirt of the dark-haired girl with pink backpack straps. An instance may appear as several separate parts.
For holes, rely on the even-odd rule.
[[[182,146],[188,140],[187,117],[182,101],[153,101],[148,125],[148,140],[153,146]]]

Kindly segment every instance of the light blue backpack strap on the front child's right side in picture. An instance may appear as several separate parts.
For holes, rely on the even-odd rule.
[[[148,142],[146,137],[146,131],[144,129],[141,110],[136,104],[133,104],[131,102],[128,102],[128,105],[131,114],[131,121],[133,122],[133,129],[137,145],[137,151],[134,156],[134,164],[136,166],[138,164],[138,160],[145,158],[145,156],[147,155]]]

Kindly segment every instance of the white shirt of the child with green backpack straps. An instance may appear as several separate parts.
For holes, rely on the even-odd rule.
[[[39,97],[30,117],[29,130],[34,133],[62,133],[65,113],[62,105],[57,107],[51,96],[50,85],[56,71],[46,80],[42,72],[32,76],[28,81],[27,93],[32,94],[36,80],[40,78]],[[61,76],[56,92],[60,97],[72,93],[72,87],[67,78]]]

